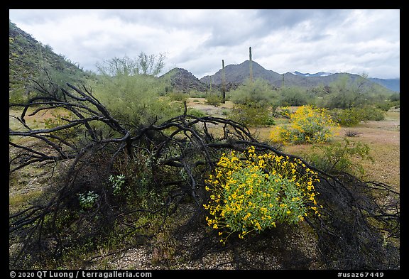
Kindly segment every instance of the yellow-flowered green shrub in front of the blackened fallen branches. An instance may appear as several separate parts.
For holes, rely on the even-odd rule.
[[[319,181],[301,160],[288,156],[256,155],[254,147],[244,153],[224,153],[206,180],[211,192],[203,205],[209,212],[207,224],[219,229],[224,243],[234,232],[243,238],[278,223],[298,223],[307,214],[319,214],[313,185]]]

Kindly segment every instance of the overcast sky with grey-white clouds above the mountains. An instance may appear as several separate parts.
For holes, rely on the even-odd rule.
[[[285,72],[400,77],[400,10],[9,10],[11,22],[85,70],[165,54],[197,78],[249,60]]]

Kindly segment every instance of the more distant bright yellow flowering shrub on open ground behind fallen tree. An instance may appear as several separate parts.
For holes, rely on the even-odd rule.
[[[337,131],[339,124],[332,121],[325,109],[313,106],[300,106],[290,114],[290,124],[279,126],[271,131],[273,141],[284,143],[326,143]]]

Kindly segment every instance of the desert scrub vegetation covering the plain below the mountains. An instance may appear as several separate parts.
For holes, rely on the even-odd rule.
[[[368,180],[377,158],[353,130],[385,121],[399,94],[346,77],[314,89],[248,80],[230,106],[211,90],[203,104],[150,75],[162,56],[142,72],[113,61],[84,87],[43,76],[10,97],[11,268],[89,268],[138,246],[153,268],[177,268],[241,245],[280,253],[271,236],[299,229],[317,253],[300,244],[305,261],[279,268],[400,268],[398,179]],[[21,192],[30,183],[42,187]]]

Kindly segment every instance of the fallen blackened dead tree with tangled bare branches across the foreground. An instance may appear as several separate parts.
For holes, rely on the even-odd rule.
[[[181,247],[191,251],[193,258],[237,248],[243,241],[238,234],[243,236],[243,231],[222,232],[231,234],[222,246],[220,231],[214,224],[212,228],[207,226],[205,217],[210,214],[210,219],[221,220],[229,205],[208,189],[216,189],[216,185],[217,191],[227,190],[227,182],[235,177],[241,177],[242,182],[236,183],[236,187],[246,187],[249,186],[246,175],[253,174],[259,178],[260,189],[277,186],[271,195],[287,197],[288,202],[282,204],[297,197],[312,197],[297,192],[297,183],[302,182],[303,187],[314,183],[317,192],[314,200],[320,214],[302,218],[294,215],[291,224],[283,215],[276,217],[274,226],[291,231],[294,222],[304,222],[316,235],[316,248],[320,251],[317,261],[325,268],[399,268],[399,248],[394,242],[399,239],[400,228],[397,192],[383,183],[364,182],[347,173],[325,173],[302,158],[258,141],[246,126],[236,121],[190,115],[185,108],[182,114],[170,119],[131,127],[126,119],[112,116],[91,89],[72,84],[59,87],[58,92],[38,84],[36,97],[10,106],[21,107],[19,116],[11,116],[19,126],[9,130],[10,172],[33,165],[50,165],[55,170],[55,179],[44,195],[9,215],[9,234],[20,244],[10,256],[12,268],[32,267],[47,258],[57,261],[75,246],[87,244],[88,248],[97,249],[98,241],[112,233],[118,237],[136,234],[151,239],[176,212],[185,221],[173,237],[182,241]],[[27,116],[44,111],[58,111],[60,117],[45,127],[31,126]],[[219,127],[217,133],[214,127]],[[251,151],[254,160],[245,157],[246,151]],[[237,169],[231,172],[225,169],[224,157],[237,160],[234,165]],[[268,167],[263,167],[262,160]],[[259,168],[256,170],[253,164]],[[287,169],[286,165],[294,168]],[[314,172],[314,179],[304,180],[302,175],[310,172]],[[219,173],[228,176],[212,179],[219,179]],[[267,184],[262,185],[264,182]],[[293,194],[283,194],[287,184],[295,191]],[[151,192],[158,195],[144,194]],[[253,192],[259,195],[256,189]],[[238,195],[224,194],[227,198]],[[251,200],[258,199],[252,196]],[[189,202],[192,210],[178,211],[183,202]],[[221,209],[214,214],[204,207],[212,202]],[[265,200],[262,205],[268,207],[269,202]],[[280,207],[278,204],[276,208]],[[247,213],[258,209],[249,210]],[[303,210],[300,204],[300,215]],[[147,216],[156,217],[156,221]],[[237,224],[249,224],[244,219],[246,214],[240,216],[243,219]],[[280,220],[287,221],[281,224]],[[229,219],[218,224],[222,223],[229,224]],[[158,230],[150,229],[153,224],[157,224]],[[258,231],[246,234],[250,245],[263,236],[272,239],[271,234],[276,231],[271,226],[255,226]],[[197,229],[200,231],[197,240],[183,242],[183,235]],[[235,261],[239,265],[242,260],[239,257]]]

